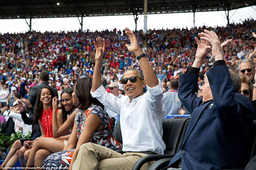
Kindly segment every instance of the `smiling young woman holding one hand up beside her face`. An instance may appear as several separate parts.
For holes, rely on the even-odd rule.
[[[63,150],[70,135],[63,136],[73,127],[78,109],[72,101],[72,88],[61,93],[61,110],[58,110],[58,99],[52,99],[52,135],[54,138],[41,137],[35,140],[26,166],[42,166],[42,162],[52,153]],[[58,138],[58,139],[55,139]]]

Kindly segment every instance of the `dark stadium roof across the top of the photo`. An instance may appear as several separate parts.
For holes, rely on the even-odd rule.
[[[225,11],[256,0],[148,0],[148,14]],[[0,19],[144,14],[144,0],[0,0]]]

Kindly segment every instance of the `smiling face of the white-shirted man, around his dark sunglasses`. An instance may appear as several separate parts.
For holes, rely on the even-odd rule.
[[[131,71],[126,71],[123,75],[123,78],[130,78],[134,76],[140,77],[137,71],[131,70]],[[131,82],[130,80],[128,80],[127,84],[123,85],[123,88],[127,96],[130,98],[130,102],[131,102],[132,99],[143,95],[143,87],[145,86],[146,86],[145,80],[141,80],[137,78],[136,82]]]

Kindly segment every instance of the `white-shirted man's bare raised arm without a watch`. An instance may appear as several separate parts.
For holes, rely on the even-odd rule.
[[[102,68],[102,60],[103,55],[106,51],[106,41],[101,38],[96,38],[96,41],[93,41],[95,48],[96,48],[96,54],[95,54],[95,67],[93,72],[93,86],[92,86],[92,92],[96,91],[101,85],[101,68]]]

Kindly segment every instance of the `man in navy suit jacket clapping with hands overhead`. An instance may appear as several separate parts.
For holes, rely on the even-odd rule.
[[[227,68],[218,36],[213,31],[199,33],[195,62],[180,75],[179,99],[192,113],[181,150],[169,167],[182,170],[219,170],[239,168],[253,123],[253,106],[240,94],[241,79]],[[209,46],[209,42],[212,47]],[[203,99],[196,97],[198,73],[212,48],[215,64],[202,80]],[[174,169],[174,168],[167,168]]]

